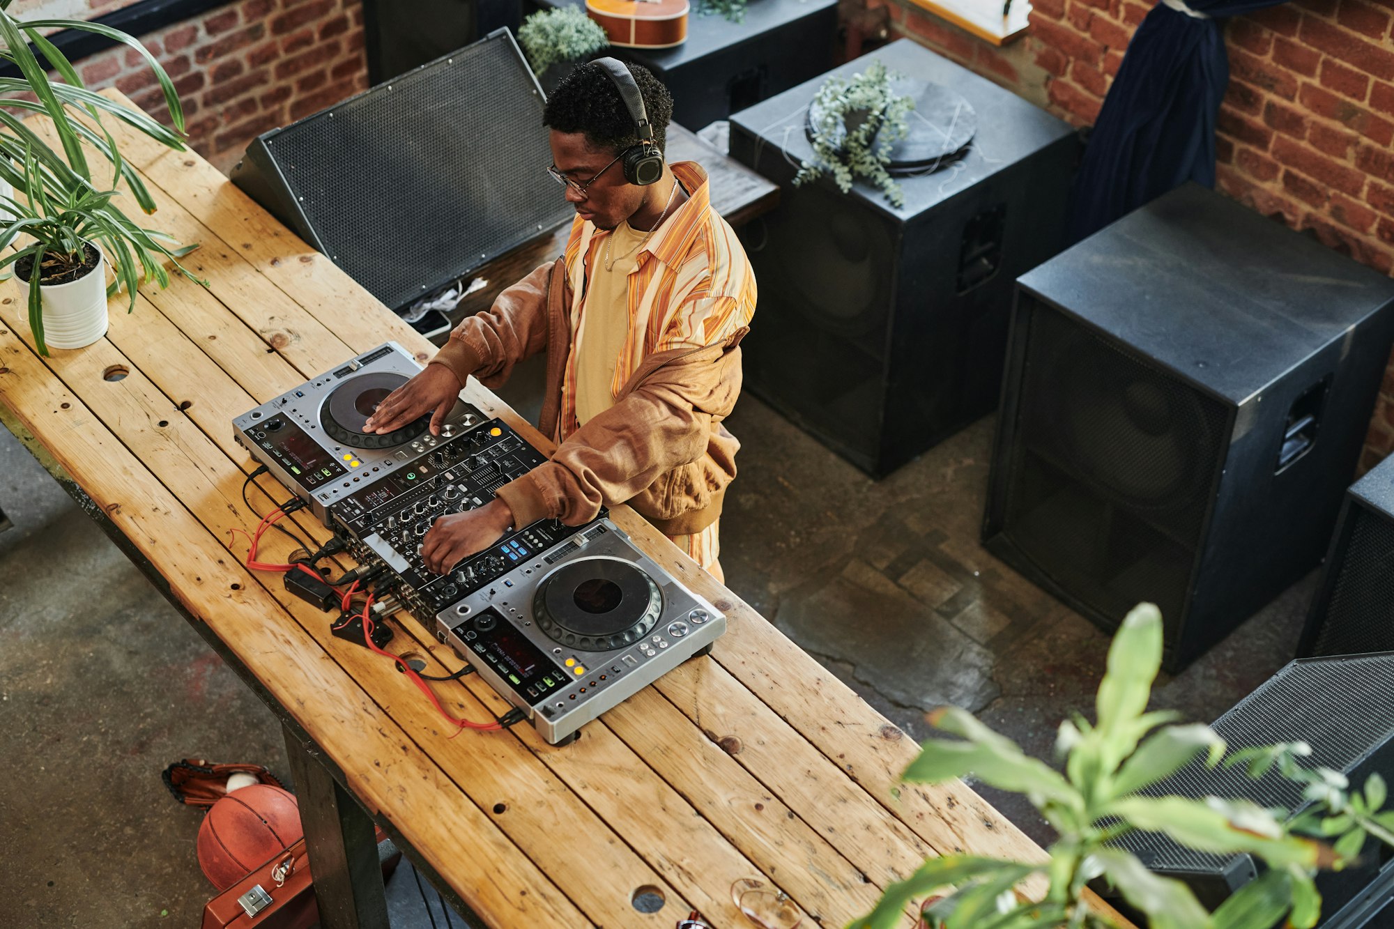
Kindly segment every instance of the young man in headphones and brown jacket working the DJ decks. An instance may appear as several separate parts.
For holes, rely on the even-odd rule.
[[[664,162],[668,89],[640,66],[583,64],[546,102],[551,174],[576,206],[566,254],[464,319],[425,371],[389,395],[365,431],[434,411],[474,375],[503,384],[546,352],[539,427],[552,460],[474,511],[442,516],[422,558],[445,573],[510,526],[579,526],[629,502],[721,577],[718,519],[740,444],[725,430],[740,393],[740,339],[756,279],[711,208],[705,172]]]

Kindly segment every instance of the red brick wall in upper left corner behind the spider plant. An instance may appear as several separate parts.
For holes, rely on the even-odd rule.
[[[91,15],[130,3],[85,1]],[[174,80],[190,144],[224,172],[261,133],[368,86],[358,0],[236,0],[138,38]],[[100,52],[77,68],[88,86],[116,86],[167,120],[155,74],[132,49]]]

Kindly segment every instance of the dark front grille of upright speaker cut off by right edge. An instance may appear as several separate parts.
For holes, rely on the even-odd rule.
[[[1394,522],[1352,504],[1349,543],[1312,654],[1394,650]]]

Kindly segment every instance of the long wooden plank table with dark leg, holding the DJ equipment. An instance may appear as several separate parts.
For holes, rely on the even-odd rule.
[[[711,656],[565,748],[527,725],[450,738],[390,661],[332,636],[230,536],[258,522],[234,416],[383,340],[422,361],[432,346],[208,162],[110,123],[160,204],[153,222],[202,243],[190,264],[209,289],[145,287],[134,314],[113,303],[100,342],[42,358],[10,285],[3,418],[284,723],[325,926],[386,925],[369,817],[492,926],[671,928],[700,909],[749,929],[730,896],[746,877],[838,926],[926,855],[1041,855],[962,784],[894,794],[914,743],[626,506],[615,522],[726,612]],[[549,446],[473,379],[464,398]],[[289,497],[258,485],[262,512]],[[284,558],[283,543],[268,533],[263,557]],[[428,672],[459,664],[413,621],[393,625],[393,649]],[[509,709],[477,675],[435,692],[466,718]],[[662,909],[636,907],[641,889]]]

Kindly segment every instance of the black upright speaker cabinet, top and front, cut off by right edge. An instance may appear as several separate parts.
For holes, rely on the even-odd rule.
[[[1345,494],[1299,656],[1394,651],[1394,458]]]

